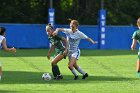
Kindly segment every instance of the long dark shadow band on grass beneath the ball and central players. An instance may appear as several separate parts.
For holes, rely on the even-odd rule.
[[[73,80],[73,75],[64,75],[63,80],[44,81],[41,76],[44,72],[3,71],[0,84],[72,84],[72,83],[104,83],[105,81],[135,81],[137,78],[124,78],[117,76],[89,76],[87,79]]]

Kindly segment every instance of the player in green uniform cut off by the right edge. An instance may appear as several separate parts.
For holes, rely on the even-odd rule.
[[[133,36],[132,36],[133,41],[132,41],[132,45],[131,45],[131,50],[135,50],[137,42],[140,45],[140,18],[138,18],[138,20],[137,20],[137,26],[138,26],[139,30],[136,30],[133,33]],[[138,76],[140,76],[140,47],[139,47],[139,52],[138,52],[136,71],[138,73]]]

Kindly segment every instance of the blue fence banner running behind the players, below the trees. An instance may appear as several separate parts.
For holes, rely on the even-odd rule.
[[[49,40],[45,31],[46,24],[0,24],[6,27],[7,45],[16,48],[49,48]],[[69,28],[68,25],[56,27]],[[130,49],[133,26],[106,26],[105,49]],[[88,37],[99,42],[98,26],[79,26],[79,30]],[[65,34],[62,34],[65,36]],[[99,43],[94,45],[87,40],[81,40],[79,48],[100,49]]]

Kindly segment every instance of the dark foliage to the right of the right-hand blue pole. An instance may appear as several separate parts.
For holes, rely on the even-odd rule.
[[[139,17],[139,0],[105,0],[107,24],[109,25],[136,25]]]

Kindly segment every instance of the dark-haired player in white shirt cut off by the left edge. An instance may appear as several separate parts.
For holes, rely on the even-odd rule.
[[[2,47],[4,51],[6,52],[16,52],[15,48],[7,48],[6,45],[6,38],[5,38],[5,31],[6,29],[4,27],[0,27],[0,48]],[[2,64],[0,63],[0,80],[2,78]]]

